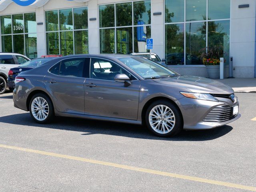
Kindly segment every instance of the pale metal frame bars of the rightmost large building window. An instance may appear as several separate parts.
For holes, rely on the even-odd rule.
[[[183,24],[184,25],[184,65],[168,65],[168,66],[172,66],[172,67],[184,67],[184,66],[194,66],[194,67],[202,67],[205,66],[204,64],[202,65],[187,65],[186,64],[186,24],[187,23],[193,23],[193,22],[206,22],[206,48],[208,47],[208,22],[215,22],[215,21],[223,21],[223,20],[229,20],[229,30],[231,29],[231,8],[232,8],[232,0],[230,0],[230,17],[226,18],[226,19],[208,19],[208,1],[206,0],[206,20],[198,20],[198,21],[186,21],[186,0],[184,0],[184,21],[183,22],[172,22],[172,23],[167,23],[165,21],[165,2],[167,0],[164,0],[164,56],[166,58],[166,36],[165,36],[165,32],[166,32],[166,25],[170,25],[170,24]],[[231,37],[231,30],[229,32],[229,36]],[[229,41],[229,47],[231,47],[231,41]],[[229,48],[229,56],[230,56],[230,48]]]

